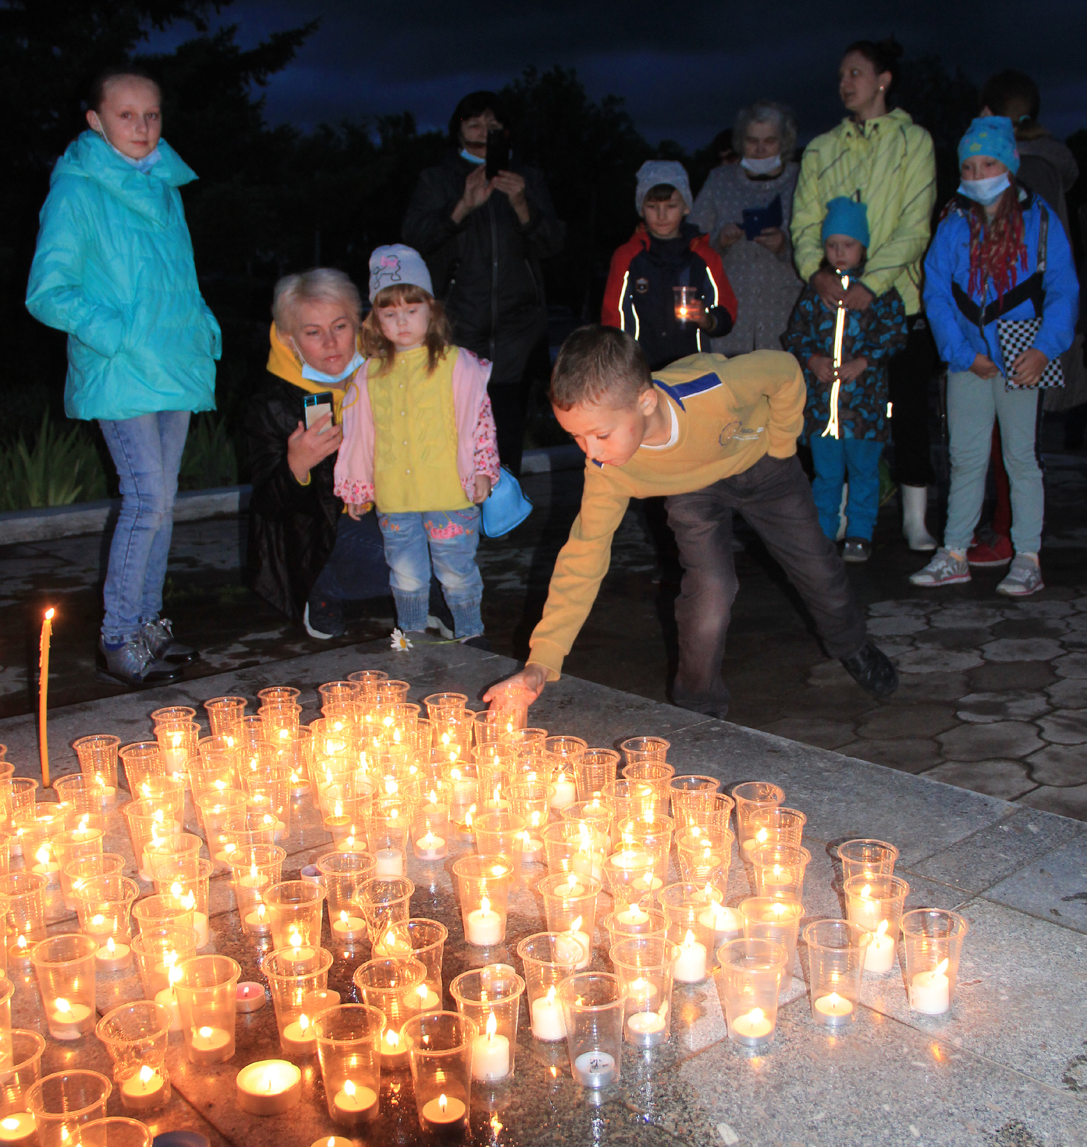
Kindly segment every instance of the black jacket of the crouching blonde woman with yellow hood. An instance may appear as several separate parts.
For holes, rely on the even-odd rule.
[[[287,439],[305,421],[304,397],[267,373],[245,414],[253,484],[245,584],[294,622],[336,546],[344,507],[333,493],[335,454],[318,462],[305,486],[287,466]]]

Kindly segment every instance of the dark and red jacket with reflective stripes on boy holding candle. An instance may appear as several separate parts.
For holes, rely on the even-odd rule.
[[[675,318],[673,287],[694,287],[706,313],[709,330]],[[736,320],[736,296],[721,257],[694,224],[685,223],[677,239],[654,239],[643,224],[611,257],[601,323],[629,331],[646,352],[650,370],[710,349]]]

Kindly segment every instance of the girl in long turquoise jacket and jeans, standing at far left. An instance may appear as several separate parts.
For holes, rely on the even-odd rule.
[[[221,338],[178,192],[196,175],[161,139],[158,85],[104,75],[87,123],[53,169],[26,306],[68,331],[64,409],[99,420],[120,479],[99,670],[154,685],[197,656],[159,610],[189,415],[214,409]]]

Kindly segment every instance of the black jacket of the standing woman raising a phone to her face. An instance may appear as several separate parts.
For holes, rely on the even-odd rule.
[[[547,330],[540,259],[557,255],[565,227],[542,174],[514,165],[525,181],[529,221],[494,192],[454,224],[453,209],[475,165],[449,154],[419,179],[404,217],[404,242],[427,260],[435,296],[445,302],[456,343],[494,364],[491,384],[519,381]]]

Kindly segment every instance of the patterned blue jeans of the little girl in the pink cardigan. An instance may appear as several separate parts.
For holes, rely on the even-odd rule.
[[[427,629],[432,561],[456,623],[456,635],[474,638],[483,633],[479,616],[483,576],[476,564],[479,507],[381,514],[377,521],[385,539],[385,561],[400,629],[406,633]]]

